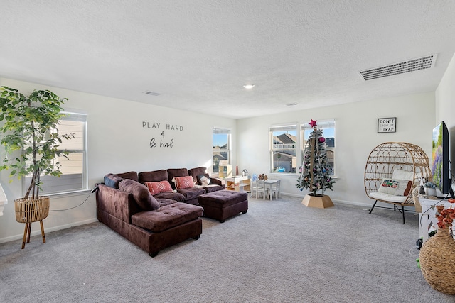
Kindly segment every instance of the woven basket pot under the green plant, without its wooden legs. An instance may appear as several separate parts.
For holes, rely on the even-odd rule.
[[[20,198],[14,200],[16,221],[19,223],[31,223],[45,219],[49,214],[50,199],[47,196],[38,199]]]

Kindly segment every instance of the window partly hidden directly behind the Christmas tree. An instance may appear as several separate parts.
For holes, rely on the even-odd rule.
[[[335,175],[335,120],[317,121],[317,127],[323,131],[323,136],[326,138],[326,155],[328,165],[330,166],[330,175]],[[309,123],[301,124],[301,151],[305,150],[306,141],[313,128]]]

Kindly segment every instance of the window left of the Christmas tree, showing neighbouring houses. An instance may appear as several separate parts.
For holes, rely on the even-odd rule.
[[[297,126],[269,128],[271,172],[296,172]]]

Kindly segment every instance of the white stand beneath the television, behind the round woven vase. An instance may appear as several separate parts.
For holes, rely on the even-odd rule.
[[[447,199],[427,199],[419,197],[419,203],[422,205],[422,212],[419,213],[419,237],[422,238],[422,244],[428,240],[429,228],[434,226],[438,229],[438,219],[436,218],[437,209],[432,206],[443,205],[445,208],[450,207]],[[452,226],[455,227],[454,223]],[[453,228],[455,230],[455,228]],[[455,236],[455,235],[454,235]]]

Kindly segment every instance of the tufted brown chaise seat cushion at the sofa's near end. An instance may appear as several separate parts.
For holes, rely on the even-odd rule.
[[[156,211],[142,211],[132,215],[132,224],[149,231],[160,232],[203,216],[200,206],[176,202]]]

